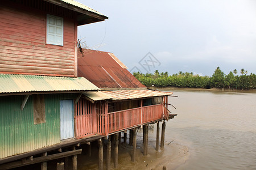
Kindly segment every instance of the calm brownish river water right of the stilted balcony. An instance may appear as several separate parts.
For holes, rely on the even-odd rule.
[[[188,146],[180,169],[256,169],[256,94],[172,90],[166,139]],[[167,167],[168,169],[168,167]]]

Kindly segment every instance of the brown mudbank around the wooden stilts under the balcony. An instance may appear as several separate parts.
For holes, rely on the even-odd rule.
[[[148,154],[147,156],[143,156],[143,137],[142,132],[139,130],[137,135],[137,153],[135,162],[131,162],[131,152],[133,147],[129,145],[121,144],[119,147],[118,154],[118,169],[155,169],[162,170],[163,165],[166,165],[167,169],[176,169],[180,165],[184,164],[189,156],[190,152],[187,146],[180,145],[180,143],[176,143],[175,141],[165,141],[164,148],[159,148],[159,151],[155,150],[155,137],[152,130],[149,131],[148,138]],[[123,139],[122,139],[123,141]],[[127,140],[127,142],[129,139]],[[97,150],[97,145],[94,145]],[[104,150],[106,146],[104,146]],[[113,154],[113,153],[112,153]],[[104,155],[105,158],[106,155]],[[86,161],[84,161],[86,160]],[[92,153],[92,156],[88,155],[79,155],[78,156],[78,169],[98,169],[98,158],[97,152]],[[104,163],[105,166],[105,163]],[[112,160],[111,169],[114,169],[114,163]],[[104,167],[105,168],[105,167]]]

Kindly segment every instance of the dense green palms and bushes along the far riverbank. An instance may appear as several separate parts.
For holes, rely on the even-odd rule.
[[[145,86],[151,87],[180,87],[180,88],[227,88],[232,90],[251,90],[256,87],[256,75],[247,75],[245,69],[241,69],[241,75],[237,75],[237,69],[224,74],[220,67],[214,71],[212,76],[200,76],[193,73],[183,73],[169,75],[159,73],[154,74],[133,73],[133,75]]]

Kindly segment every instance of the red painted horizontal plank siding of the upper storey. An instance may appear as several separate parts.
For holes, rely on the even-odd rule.
[[[0,5],[0,74],[77,76],[75,19],[64,18],[63,46],[50,45],[47,12],[23,7]]]

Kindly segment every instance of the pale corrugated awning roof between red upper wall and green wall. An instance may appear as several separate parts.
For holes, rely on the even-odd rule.
[[[0,94],[35,91],[99,90],[85,78],[0,74]]]

